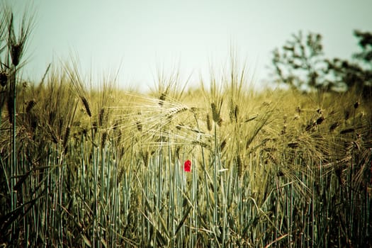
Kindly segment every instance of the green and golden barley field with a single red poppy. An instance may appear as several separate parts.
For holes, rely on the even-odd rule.
[[[197,89],[92,86],[77,60],[29,82],[18,41],[1,51],[1,247],[372,247],[371,98],[254,91],[236,57]]]

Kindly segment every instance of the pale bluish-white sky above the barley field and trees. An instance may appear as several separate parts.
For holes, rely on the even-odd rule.
[[[7,1],[7,0],[1,0]],[[325,57],[358,52],[353,30],[372,31],[371,0],[12,0],[35,12],[23,77],[40,81],[47,65],[78,57],[81,74],[118,72],[118,86],[147,90],[160,72],[198,86],[227,69],[230,50],[249,80],[272,79],[271,52],[293,33],[322,34]],[[30,4],[31,3],[31,4]],[[98,79],[97,79],[98,80]]]

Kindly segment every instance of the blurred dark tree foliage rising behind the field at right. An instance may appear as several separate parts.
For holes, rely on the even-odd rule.
[[[363,96],[371,94],[372,39],[371,33],[354,31],[361,52],[354,54],[355,61],[332,60],[323,57],[322,36],[317,33],[293,35],[281,51],[273,52],[272,62],[279,81],[294,89],[322,89],[344,91],[355,88]]]

